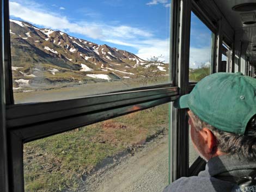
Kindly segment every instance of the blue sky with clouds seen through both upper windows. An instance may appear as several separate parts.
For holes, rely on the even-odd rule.
[[[169,60],[170,0],[10,0],[10,18],[124,49],[142,59],[162,55]],[[207,32],[192,16],[193,22],[198,27],[191,31],[191,46],[205,48]]]

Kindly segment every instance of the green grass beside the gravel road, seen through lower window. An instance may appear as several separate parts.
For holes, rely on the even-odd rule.
[[[168,129],[168,104],[24,145],[25,191],[77,191],[106,157]]]

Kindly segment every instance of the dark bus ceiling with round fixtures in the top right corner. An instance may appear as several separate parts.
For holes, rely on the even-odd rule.
[[[233,29],[235,41],[241,41],[246,56],[252,65],[256,65],[256,1],[255,0],[214,0],[224,22],[222,27]]]

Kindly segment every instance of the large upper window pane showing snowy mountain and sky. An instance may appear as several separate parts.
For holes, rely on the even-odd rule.
[[[15,103],[170,82],[170,2],[9,2]]]

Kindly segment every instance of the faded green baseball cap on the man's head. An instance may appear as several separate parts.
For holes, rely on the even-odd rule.
[[[240,72],[214,73],[175,100],[174,107],[189,108],[211,126],[243,135],[256,114],[256,79]]]

